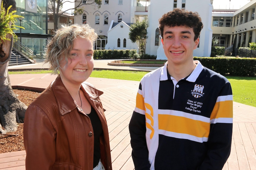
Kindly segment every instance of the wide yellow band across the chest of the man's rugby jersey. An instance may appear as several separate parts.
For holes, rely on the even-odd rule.
[[[158,127],[162,130],[189,134],[196,137],[209,136],[210,123],[166,114],[159,114],[158,121]]]

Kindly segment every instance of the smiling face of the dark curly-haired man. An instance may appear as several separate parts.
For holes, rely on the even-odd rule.
[[[194,41],[193,28],[187,26],[165,26],[162,44],[168,63],[186,64],[193,60],[193,50],[197,48],[199,38]]]

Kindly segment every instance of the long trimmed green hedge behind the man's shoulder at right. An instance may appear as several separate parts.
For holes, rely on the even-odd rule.
[[[194,60],[221,75],[256,76],[256,58],[194,57]]]

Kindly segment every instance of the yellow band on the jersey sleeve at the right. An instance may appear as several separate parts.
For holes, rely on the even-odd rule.
[[[211,120],[220,117],[232,118],[233,117],[233,101],[220,101],[217,102],[211,113]]]

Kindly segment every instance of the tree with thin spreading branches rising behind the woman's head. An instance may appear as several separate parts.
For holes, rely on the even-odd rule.
[[[50,7],[48,9],[48,12],[50,10],[52,10],[52,12],[53,12],[54,30],[58,30],[58,19],[64,12],[67,12],[68,10],[74,9],[75,10],[75,13],[74,13],[75,15],[81,14],[83,12],[83,9],[79,8],[79,7],[81,7],[82,5],[95,5],[95,4],[97,4],[98,7],[100,7],[101,1],[102,0],[87,0],[87,1],[84,1],[84,0],[73,0],[73,1],[72,0],[48,0],[48,4],[50,5]],[[68,3],[68,2],[72,2],[72,3],[75,3],[77,5],[74,8],[71,7],[70,9],[67,9],[65,11],[60,12],[63,5],[65,3]],[[83,2],[86,2],[86,3],[83,3]]]

